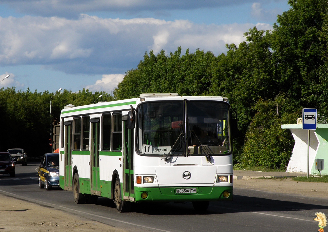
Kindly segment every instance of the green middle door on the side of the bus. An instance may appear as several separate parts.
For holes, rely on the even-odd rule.
[[[100,194],[99,174],[99,119],[91,119],[91,193]]]

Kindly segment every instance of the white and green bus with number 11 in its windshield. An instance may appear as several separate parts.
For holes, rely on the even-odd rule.
[[[141,94],[66,108],[60,115],[60,187],[75,203],[113,199],[186,202],[206,210],[232,200],[231,112],[227,98]]]

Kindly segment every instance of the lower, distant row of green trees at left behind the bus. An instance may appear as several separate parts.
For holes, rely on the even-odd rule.
[[[0,150],[9,148],[23,148],[28,157],[39,157],[52,152],[49,145],[53,118],[59,118],[60,111],[68,104],[81,106],[92,104],[94,100],[112,101],[113,96],[105,92],[92,92],[88,90],[78,93],[64,90],[61,94],[48,91],[25,92],[16,91],[15,88],[0,90]],[[51,97],[52,96],[52,97]],[[50,99],[52,116],[50,115]]]

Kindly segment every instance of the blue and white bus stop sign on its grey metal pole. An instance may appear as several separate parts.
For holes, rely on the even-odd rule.
[[[317,129],[317,109],[306,109],[302,111],[302,129],[308,130],[308,149],[307,149],[307,178],[309,178],[309,159],[310,159],[310,130]]]

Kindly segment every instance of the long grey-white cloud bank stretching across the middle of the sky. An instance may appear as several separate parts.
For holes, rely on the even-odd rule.
[[[225,43],[239,44],[249,28],[268,24],[195,24],[154,18],[102,19],[81,14],[58,17],[1,18],[0,63],[38,64],[70,74],[124,73],[135,68],[145,51],[174,52],[197,48],[218,55]]]

